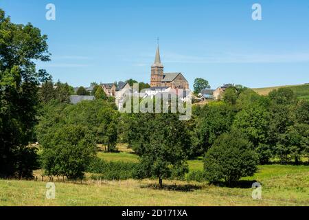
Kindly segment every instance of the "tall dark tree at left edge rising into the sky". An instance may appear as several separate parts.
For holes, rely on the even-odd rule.
[[[49,61],[47,36],[30,23],[16,25],[0,9],[0,176],[31,177],[38,85],[49,80],[36,61]]]

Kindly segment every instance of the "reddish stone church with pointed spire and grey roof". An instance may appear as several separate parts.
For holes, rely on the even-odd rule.
[[[180,72],[165,73],[161,63],[159,45],[155,63],[151,67],[150,87],[169,87],[171,89],[189,89],[189,83]]]

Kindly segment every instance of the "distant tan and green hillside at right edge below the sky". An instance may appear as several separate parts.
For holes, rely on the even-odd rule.
[[[258,94],[262,96],[267,96],[269,92],[273,91],[274,89],[279,89],[279,88],[290,88],[292,89],[297,98],[304,98],[309,100],[309,83],[303,84],[303,85],[284,85],[284,86],[279,86],[279,87],[266,87],[266,88],[258,88],[258,89],[253,89],[256,91]]]

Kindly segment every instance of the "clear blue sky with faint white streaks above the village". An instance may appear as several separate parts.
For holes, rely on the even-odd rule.
[[[56,5],[56,21],[45,6]],[[262,21],[253,21],[253,3]],[[49,36],[52,61],[39,63],[74,87],[134,78],[150,81],[157,36],[165,72],[182,72],[192,87],[309,83],[309,1],[286,0],[0,0],[14,23]]]

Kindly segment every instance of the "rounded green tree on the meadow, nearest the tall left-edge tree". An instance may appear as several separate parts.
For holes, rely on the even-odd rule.
[[[49,127],[40,141],[43,147],[41,162],[45,175],[62,175],[82,179],[91,159],[95,158],[95,137],[81,125]]]

